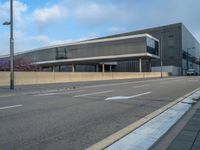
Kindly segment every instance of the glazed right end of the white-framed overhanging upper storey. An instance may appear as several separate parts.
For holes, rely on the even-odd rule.
[[[147,37],[147,52],[154,55],[159,55],[159,46],[158,41],[155,41],[149,37]]]

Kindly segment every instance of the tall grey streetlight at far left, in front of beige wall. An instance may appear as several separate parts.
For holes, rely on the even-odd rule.
[[[13,37],[13,0],[10,0],[10,22],[3,25],[10,25],[10,89],[14,89],[14,37]]]

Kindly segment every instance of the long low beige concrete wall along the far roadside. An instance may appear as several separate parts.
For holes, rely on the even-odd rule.
[[[163,73],[167,77],[168,73]],[[160,77],[159,72],[142,73],[63,73],[63,72],[15,72],[16,85],[62,83],[62,82],[80,82],[97,80],[115,80],[131,78],[153,78]],[[0,72],[0,86],[9,85],[9,72]]]

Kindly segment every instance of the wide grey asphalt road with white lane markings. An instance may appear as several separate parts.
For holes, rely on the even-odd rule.
[[[55,84],[68,87],[57,91],[53,84],[22,86],[23,94],[16,90],[12,95],[0,88],[0,149],[85,149],[199,88],[199,81],[173,77],[65,83]]]

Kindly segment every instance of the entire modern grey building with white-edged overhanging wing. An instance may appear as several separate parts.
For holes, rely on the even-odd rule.
[[[6,60],[0,58],[1,70]],[[15,68],[24,70],[149,72],[161,71],[161,64],[172,75],[185,75],[190,68],[200,73],[200,44],[182,23],[15,55]]]

